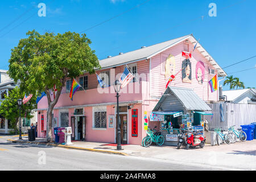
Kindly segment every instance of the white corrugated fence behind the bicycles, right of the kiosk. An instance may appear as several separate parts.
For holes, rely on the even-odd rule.
[[[224,113],[224,122],[220,119],[220,104]],[[256,105],[233,104],[233,103],[214,103],[208,104],[212,108],[212,115],[205,115],[208,121],[209,131],[215,128],[222,128],[227,131],[230,126],[236,125],[235,129],[241,128],[240,125],[249,125],[256,122]]]

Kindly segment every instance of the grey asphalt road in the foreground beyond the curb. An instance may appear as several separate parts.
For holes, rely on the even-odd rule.
[[[90,151],[68,150],[51,146],[6,142],[0,136],[0,168],[15,171],[174,171],[212,170],[210,168],[172,164],[167,160],[101,154]]]

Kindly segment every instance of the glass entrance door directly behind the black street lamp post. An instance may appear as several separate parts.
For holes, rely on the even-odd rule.
[[[127,114],[119,114],[120,117],[120,130],[121,130],[121,144],[127,144]],[[117,116],[115,118],[115,121],[117,121],[116,130],[118,128],[118,120]],[[117,132],[116,132],[116,141],[117,141]]]

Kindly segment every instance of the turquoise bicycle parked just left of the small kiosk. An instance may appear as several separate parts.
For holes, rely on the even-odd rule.
[[[142,146],[143,147],[150,146],[152,144],[152,142],[155,142],[158,146],[162,146],[162,144],[164,143],[163,135],[161,135],[159,132],[154,134],[155,133],[154,129],[150,130],[150,127],[148,127],[148,129],[146,131],[147,137],[144,137],[143,140],[142,140]]]

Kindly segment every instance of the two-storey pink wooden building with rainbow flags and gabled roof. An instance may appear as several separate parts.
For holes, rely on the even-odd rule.
[[[143,126],[144,114],[147,114],[148,119],[166,90],[170,75],[178,73],[170,86],[191,88],[203,101],[217,102],[218,91],[212,93],[208,81],[216,74],[226,76],[226,73],[213,57],[196,43],[193,35],[187,35],[100,60],[102,68],[96,73],[110,86],[102,89],[98,85],[96,74],[84,73],[76,80],[86,88],[86,92],[76,92],[71,101],[71,81],[67,80],[66,88],[63,89],[53,110],[54,127],[71,126],[73,140],[116,143],[117,99],[113,84],[115,80],[119,80],[126,65],[138,79],[123,88],[119,97],[123,144],[141,144],[146,136]],[[189,61],[184,62],[186,58],[182,52],[193,51],[195,45],[196,49]],[[185,63],[188,66],[183,69],[184,72],[180,71]],[[44,137],[47,126],[46,113],[47,98],[43,97],[38,104],[39,137]],[[159,126],[159,123],[149,122],[149,125]]]

